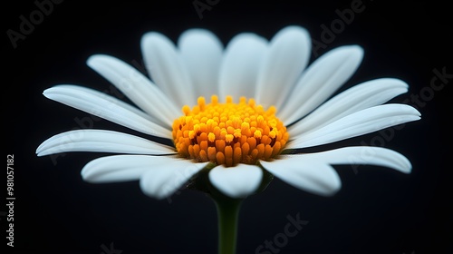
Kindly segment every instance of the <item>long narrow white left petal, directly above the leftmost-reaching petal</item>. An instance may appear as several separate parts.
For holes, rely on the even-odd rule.
[[[53,101],[89,112],[132,130],[162,138],[171,138],[171,132],[151,122],[145,112],[105,93],[78,85],[61,84],[45,90],[43,94]]]

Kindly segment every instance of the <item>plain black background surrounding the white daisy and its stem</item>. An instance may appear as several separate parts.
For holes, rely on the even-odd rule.
[[[96,254],[104,251],[102,246],[110,249],[111,243],[123,254],[216,253],[216,209],[204,194],[192,190],[181,191],[171,200],[153,200],[141,193],[138,182],[82,181],[83,165],[106,154],[72,152],[54,158],[56,164],[50,156],[36,157],[34,151],[41,142],[81,128],[78,121],[85,121],[85,127],[139,134],[107,121],[88,122],[89,114],[46,99],[44,89],[75,83],[108,90],[110,83],[94,73],[86,59],[111,54],[140,64],[140,37],[149,31],[176,41],[188,28],[207,28],[226,44],[241,32],[270,39],[284,26],[298,24],[321,41],[321,25],[330,26],[338,18],[335,10],[350,8],[352,3],[222,0],[200,19],[192,1],[64,1],[54,5],[53,12],[14,49],[6,31],[18,31],[19,16],[28,17],[37,7],[33,1],[11,2],[2,6],[2,145],[4,156],[14,154],[16,200],[14,249],[8,247],[6,253]],[[440,1],[395,2],[364,0],[365,10],[318,51],[323,54],[344,44],[365,49],[361,67],[342,90],[378,77],[397,77],[410,84],[409,93],[393,100],[401,103],[420,91],[427,98],[433,69],[453,73],[451,9]],[[237,252],[255,253],[265,239],[284,231],[287,215],[300,213],[309,223],[279,253],[451,253],[453,179],[447,162],[452,85],[450,79],[442,90],[430,94],[432,98],[422,101],[421,121],[392,129],[394,136],[384,142],[378,142],[382,135],[377,132],[322,147],[383,145],[410,159],[411,174],[381,167],[336,166],[342,190],[332,198],[275,180],[265,192],[244,202]],[[380,135],[381,139],[376,138]],[[3,204],[0,210],[6,210]],[[5,216],[0,223],[3,248]]]

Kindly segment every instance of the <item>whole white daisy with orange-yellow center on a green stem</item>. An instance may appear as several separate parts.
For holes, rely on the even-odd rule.
[[[56,85],[43,94],[174,145],[122,132],[77,130],[46,140],[38,156],[120,153],[89,162],[82,169],[83,180],[140,181],[141,190],[157,199],[190,182],[223,200],[217,201],[219,217],[226,218],[220,218],[221,228],[235,220],[235,210],[226,212],[235,207],[234,200],[259,192],[273,176],[330,196],[342,185],[335,164],[411,171],[408,159],[381,147],[298,153],[419,120],[419,112],[409,105],[387,103],[408,91],[407,83],[398,79],[371,80],[333,96],[361,64],[358,45],[334,48],[307,66],[310,35],[302,27],[288,26],[270,41],[238,34],[225,49],[215,34],[203,29],[184,32],[177,46],[152,32],[142,37],[141,50],[150,79],[109,55],[88,59],[135,106],[73,84]]]

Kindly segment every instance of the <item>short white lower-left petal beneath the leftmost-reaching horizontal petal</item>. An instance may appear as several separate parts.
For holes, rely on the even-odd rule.
[[[137,181],[146,171],[177,159],[167,156],[114,155],[90,161],[82,169],[84,181],[93,183]]]

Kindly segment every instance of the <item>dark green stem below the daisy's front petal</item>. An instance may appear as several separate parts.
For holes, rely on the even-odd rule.
[[[217,206],[218,254],[235,254],[237,218],[242,200],[211,196]]]

